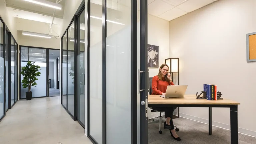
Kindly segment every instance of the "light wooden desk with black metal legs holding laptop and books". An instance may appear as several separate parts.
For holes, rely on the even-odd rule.
[[[148,106],[156,107],[208,107],[209,108],[209,135],[212,135],[212,108],[230,108],[231,144],[238,144],[238,105],[239,102],[224,100],[200,100],[196,95],[185,95],[183,98],[162,98],[159,95],[148,96]]]

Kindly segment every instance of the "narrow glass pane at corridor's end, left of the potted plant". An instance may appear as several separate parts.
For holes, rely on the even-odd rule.
[[[20,48],[20,68],[26,66],[28,63],[28,47],[21,47]],[[20,77],[21,81],[23,79],[23,76]],[[28,88],[23,88],[21,83],[21,89],[20,89],[20,98],[24,99],[26,98],[26,92],[28,91]]]

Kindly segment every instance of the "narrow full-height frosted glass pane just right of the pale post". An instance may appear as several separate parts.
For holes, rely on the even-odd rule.
[[[97,4],[95,4],[97,3]],[[102,17],[102,0],[90,3],[91,16]],[[102,144],[102,20],[90,17],[90,125],[89,133]],[[113,77],[113,75],[112,75]]]

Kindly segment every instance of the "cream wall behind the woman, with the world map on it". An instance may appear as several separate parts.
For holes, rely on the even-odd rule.
[[[139,37],[138,37],[139,41]],[[159,67],[164,63],[164,59],[169,58],[169,22],[148,15],[148,44],[159,46]],[[148,68],[149,77],[154,77],[158,74],[159,68]],[[151,113],[148,117],[153,118],[159,116],[159,113]]]

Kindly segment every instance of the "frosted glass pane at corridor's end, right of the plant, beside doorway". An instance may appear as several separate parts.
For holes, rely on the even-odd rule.
[[[31,87],[33,92],[32,97],[45,97],[46,96],[46,49],[29,48],[28,49],[29,61],[34,63],[34,65],[40,66],[38,76],[36,81],[36,87]]]

